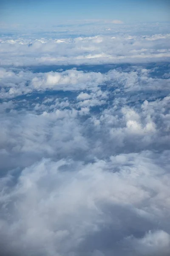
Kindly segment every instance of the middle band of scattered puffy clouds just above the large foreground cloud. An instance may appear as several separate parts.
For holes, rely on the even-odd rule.
[[[100,90],[88,95],[91,99],[76,102],[69,97],[52,97],[40,103],[37,98],[33,101],[36,103],[29,98],[28,102],[3,103],[1,169],[26,166],[42,156],[93,161],[111,153],[169,148],[169,97],[145,100],[135,108],[122,98],[109,101],[109,93]]]

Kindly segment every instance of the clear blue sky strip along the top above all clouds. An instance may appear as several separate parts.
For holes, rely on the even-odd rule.
[[[0,22],[49,23],[80,19],[169,21],[169,0],[0,0]]]

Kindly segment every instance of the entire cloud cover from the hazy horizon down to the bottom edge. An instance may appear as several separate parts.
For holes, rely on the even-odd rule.
[[[0,256],[170,255],[169,34],[108,28],[1,38]]]

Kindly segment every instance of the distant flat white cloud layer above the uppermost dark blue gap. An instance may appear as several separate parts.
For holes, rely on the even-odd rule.
[[[134,35],[112,32],[74,38],[4,38],[1,65],[36,66],[68,64],[145,63],[170,59],[170,34]],[[108,26],[107,23],[105,26]],[[114,24],[113,24],[114,25]],[[108,31],[107,28],[104,28]],[[127,27],[127,31],[129,27]],[[125,30],[125,28],[124,28]],[[103,30],[102,30],[103,31]],[[111,34],[110,34],[111,33]],[[116,34],[115,34],[116,33]],[[153,33],[152,33],[153,34]]]

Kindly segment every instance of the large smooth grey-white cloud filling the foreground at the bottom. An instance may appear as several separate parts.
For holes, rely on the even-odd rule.
[[[158,251],[166,255],[169,185],[168,174],[156,164],[160,160],[150,152],[120,154],[89,164],[44,159],[23,169],[17,184],[8,176],[2,180],[0,198],[6,251],[91,255],[100,250],[105,255],[116,251],[124,255],[128,245],[129,255],[141,250],[142,255]],[[158,219],[167,232],[145,235]],[[131,233],[134,238],[126,238]]]

